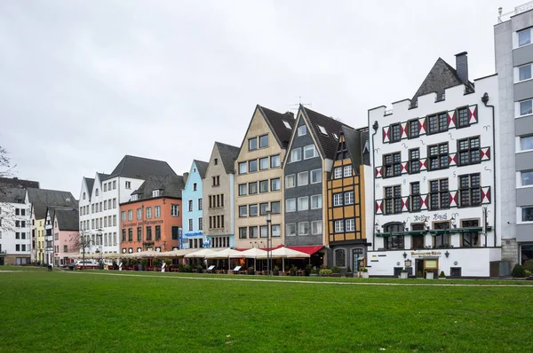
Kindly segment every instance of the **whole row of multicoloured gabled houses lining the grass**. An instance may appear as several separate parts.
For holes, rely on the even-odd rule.
[[[64,194],[15,191],[32,235],[13,252],[24,242],[32,261],[67,263],[79,255],[68,240],[77,216],[86,251],[103,256],[283,245],[372,276],[505,275],[533,258],[531,27],[527,9],[497,24],[496,75],[471,80],[466,52],[455,67],[438,59],[414,94],[371,108],[364,127],[306,106],[256,106],[241,145],[215,142],[183,175],[126,155],[84,177],[79,216]]]

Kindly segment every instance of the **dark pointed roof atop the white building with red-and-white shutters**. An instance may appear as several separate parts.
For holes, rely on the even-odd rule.
[[[417,93],[411,99],[411,106],[415,106],[418,101],[418,97],[424,96],[429,93],[437,93],[437,100],[442,99],[444,90],[464,84],[463,81],[457,75],[457,70],[439,58],[434,64],[434,67],[427,74],[426,79],[420,85]],[[469,89],[473,89],[473,83],[469,82]]]

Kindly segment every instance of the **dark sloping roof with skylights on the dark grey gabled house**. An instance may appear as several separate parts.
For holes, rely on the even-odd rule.
[[[335,153],[337,152],[338,139],[333,136],[333,134],[338,134],[340,131],[347,127],[349,129],[354,129],[349,125],[346,125],[344,122],[339,122],[331,118],[330,116],[322,115],[316,113],[311,109],[306,108],[305,106],[300,105],[300,110],[306,114],[308,121],[311,124],[312,133],[318,141],[318,148],[322,151],[322,156],[330,160],[335,159]],[[328,135],[322,134],[318,125],[321,125],[326,129]]]

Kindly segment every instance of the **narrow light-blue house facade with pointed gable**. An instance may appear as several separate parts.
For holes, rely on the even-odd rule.
[[[180,248],[210,247],[209,239],[203,236],[203,177],[208,163],[193,161],[185,189],[183,200],[183,233],[179,241]]]

